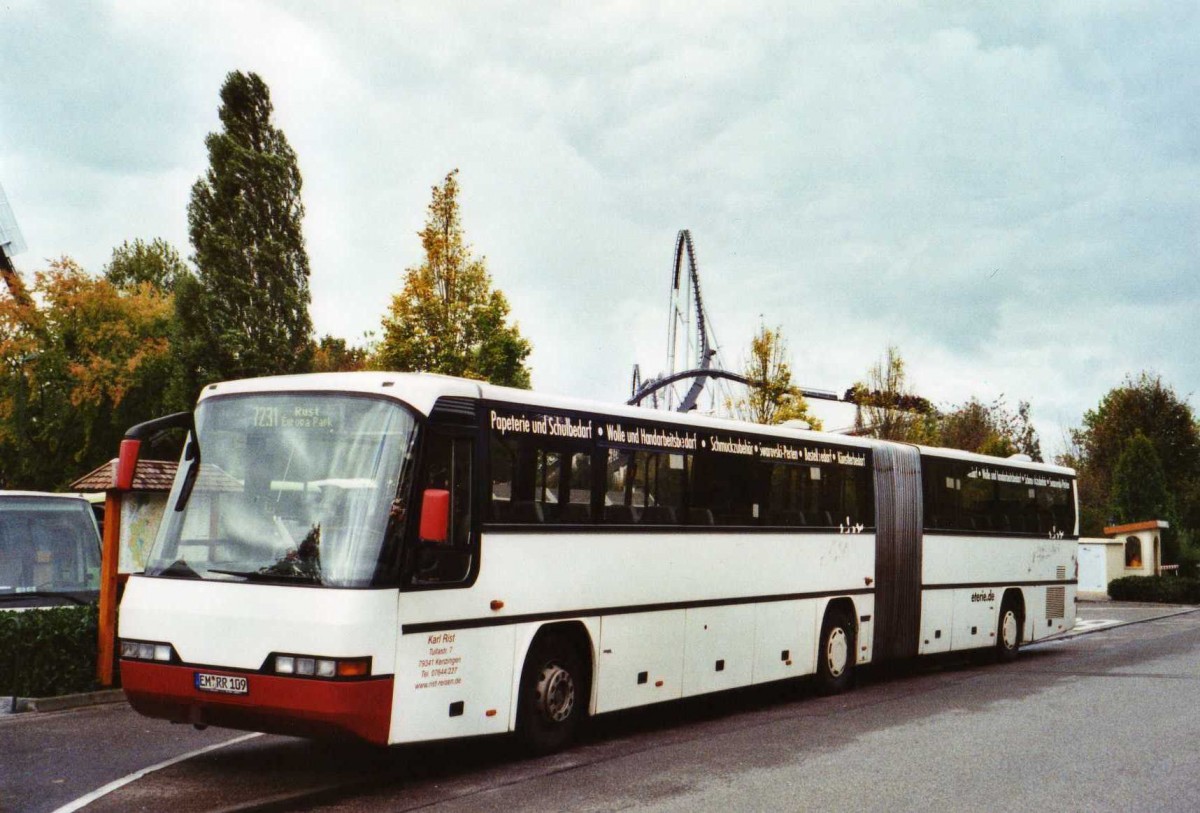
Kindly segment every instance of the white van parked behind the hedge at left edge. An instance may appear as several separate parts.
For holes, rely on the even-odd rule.
[[[74,494],[0,490],[0,610],[100,597],[100,530]]]

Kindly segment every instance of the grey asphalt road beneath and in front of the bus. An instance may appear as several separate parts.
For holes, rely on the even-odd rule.
[[[1118,612],[1120,610],[1120,612]],[[1195,811],[1200,613],[1084,606],[1091,632],[1013,664],[876,670],[607,716],[563,754],[506,739],[390,751],[256,737],[148,773],[86,811]],[[0,717],[0,809],[59,808],[238,733],[122,705]]]

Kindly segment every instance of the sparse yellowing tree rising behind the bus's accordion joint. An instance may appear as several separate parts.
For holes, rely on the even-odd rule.
[[[871,365],[866,378],[846,393],[857,404],[854,433],[882,440],[929,442],[936,430],[936,410],[913,393],[904,357],[888,345],[883,357]]]

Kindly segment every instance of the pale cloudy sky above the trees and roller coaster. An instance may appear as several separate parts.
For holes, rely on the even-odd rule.
[[[1200,6],[0,0],[0,183],[29,251],[187,245],[227,72],[305,179],[313,320],[377,330],[461,169],[534,385],[664,366],[676,233],[737,363],[889,344],[922,395],[1033,404],[1061,446],[1127,373],[1200,389]]]

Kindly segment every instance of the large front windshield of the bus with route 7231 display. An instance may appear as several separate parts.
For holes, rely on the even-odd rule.
[[[361,588],[398,540],[415,421],[336,393],[204,401],[146,576]]]

